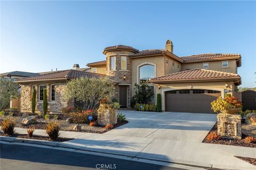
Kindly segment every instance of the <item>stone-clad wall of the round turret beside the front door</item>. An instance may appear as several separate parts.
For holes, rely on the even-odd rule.
[[[129,54],[134,54],[133,52],[125,51],[125,50],[117,50],[115,52],[109,52],[106,55],[107,60],[107,73],[111,79],[116,80],[119,84],[129,84],[127,85],[127,107],[130,107],[131,103],[130,100],[132,98],[132,62],[131,58],[128,57]],[[110,57],[116,56],[116,70],[110,70]],[[127,70],[121,70],[121,56],[127,56]],[[123,77],[126,77],[124,80]],[[118,85],[123,86],[123,85]],[[118,86],[117,86],[117,94],[116,99],[118,100]]]

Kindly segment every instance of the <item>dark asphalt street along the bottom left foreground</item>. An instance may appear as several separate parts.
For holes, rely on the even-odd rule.
[[[1,170],[37,169],[169,169],[181,170],[131,160],[81,154],[77,152],[1,143]]]

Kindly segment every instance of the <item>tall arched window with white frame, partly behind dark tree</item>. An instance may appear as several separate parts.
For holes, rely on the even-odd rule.
[[[139,83],[148,83],[148,89],[152,91],[153,96],[151,102],[155,102],[155,86],[149,84],[149,79],[155,77],[155,66],[151,64],[145,64],[139,67]]]

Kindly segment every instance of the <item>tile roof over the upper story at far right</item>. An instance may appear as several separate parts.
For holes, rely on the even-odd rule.
[[[207,54],[197,54],[190,56],[180,57],[183,61],[195,61],[195,60],[210,60],[216,58],[228,58],[228,57],[237,57],[240,58],[240,54],[220,54],[220,53],[207,53]]]

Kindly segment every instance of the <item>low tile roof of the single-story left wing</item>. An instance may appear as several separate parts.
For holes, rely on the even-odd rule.
[[[47,73],[47,74],[43,74],[43,75],[36,75],[33,77],[19,79],[15,82],[21,83],[21,82],[33,82],[33,81],[52,81],[52,80],[58,81],[58,80],[76,79],[76,78],[80,78],[80,77],[100,78],[100,77],[105,77],[105,76],[106,75],[104,75],[104,74],[84,72],[84,71],[79,71],[79,70],[62,70],[62,71],[55,71],[55,72]]]

